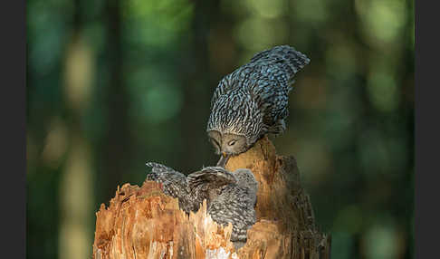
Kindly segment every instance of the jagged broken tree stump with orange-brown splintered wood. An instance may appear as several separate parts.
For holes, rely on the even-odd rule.
[[[101,204],[93,258],[330,258],[330,235],[316,228],[292,156],[277,156],[263,138],[225,168],[249,168],[259,184],[257,222],[238,251],[229,241],[232,225],[217,225],[206,202],[188,216],[160,184],[145,181],[142,187],[118,187],[110,206]]]

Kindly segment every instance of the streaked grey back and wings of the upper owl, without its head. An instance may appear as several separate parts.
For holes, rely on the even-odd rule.
[[[256,53],[250,62],[226,75],[219,83],[211,100],[211,109],[215,101],[236,88],[247,89],[259,109],[263,111],[263,122],[273,125],[288,115],[288,94],[292,91],[293,76],[310,59],[290,46],[276,46]]]

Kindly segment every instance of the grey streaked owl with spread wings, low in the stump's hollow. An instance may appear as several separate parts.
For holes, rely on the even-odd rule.
[[[206,167],[187,177],[173,168],[147,163],[152,168],[147,179],[163,184],[164,193],[177,197],[179,206],[196,212],[206,199],[207,213],[219,225],[233,225],[231,241],[244,245],[247,229],[256,222],[254,206],[258,183],[249,169],[229,172],[221,167]]]

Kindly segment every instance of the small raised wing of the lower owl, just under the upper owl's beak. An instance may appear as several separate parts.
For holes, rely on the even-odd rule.
[[[221,167],[206,167],[187,177],[187,185],[190,190],[214,189],[236,182],[237,179],[234,175]]]

